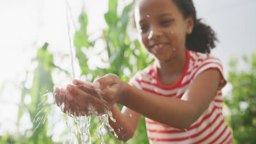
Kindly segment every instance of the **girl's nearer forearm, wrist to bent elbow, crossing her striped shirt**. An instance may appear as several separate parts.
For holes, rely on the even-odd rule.
[[[198,117],[195,107],[185,100],[159,97],[132,86],[128,86],[125,93],[119,101],[120,104],[174,128],[187,128]]]

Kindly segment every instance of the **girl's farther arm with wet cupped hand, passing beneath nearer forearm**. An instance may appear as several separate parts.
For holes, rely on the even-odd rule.
[[[92,104],[98,114],[106,113],[106,108],[111,107],[110,111],[112,111],[112,116],[115,119],[115,122],[113,122],[110,118],[108,122],[110,126],[114,129],[115,134],[118,135],[118,139],[122,141],[127,141],[133,136],[141,118],[140,114],[130,109],[127,109],[127,107],[123,107],[122,112],[120,112],[117,105],[110,106],[106,104],[106,101],[103,101],[101,99],[101,92],[99,93],[95,91],[91,83],[79,80],[74,80],[73,83],[74,85],[67,86],[67,98],[69,99],[69,101],[65,104],[68,106],[70,105],[71,108],[77,107],[77,109],[72,109],[71,112],[78,113],[78,115],[83,115],[83,113],[85,113],[85,115],[88,115],[88,104]],[[72,91],[70,87],[72,87]],[[60,98],[65,99],[66,97]],[[63,101],[60,98],[57,98],[57,100]],[[113,133],[113,131],[109,131]]]

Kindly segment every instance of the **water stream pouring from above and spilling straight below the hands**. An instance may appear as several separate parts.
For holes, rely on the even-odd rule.
[[[75,49],[74,49],[74,45],[73,45],[75,28],[74,28],[74,23],[73,23],[73,19],[72,19],[72,11],[71,11],[71,7],[69,5],[68,0],[66,0],[66,14],[67,14],[70,57],[71,57],[71,65],[72,65],[72,78],[77,79],[78,77],[75,77],[75,70],[74,70]],[[92,107],[92,106],[89,106],[88,110],[92,115],[97,114],[97,112],[94,110],[94,107]],[[111,111],[108,111],[104,115],[100,115],[100,116],[97,115],[95,117],[100,119],[100,121],[102,122],[101,127],[99,128],[99,131],[97,131],[97,134],[96,134],[96,137],[101,137],[102,144],[104,143],[104,139],[103,139],[104,127],[107,127],[110,131],[112,131],[114,133],[115,137],[118,137],[117,134],[115,134],[113,128],[108,123],[109,118],[115,122],[115,119],[112,117]],[[67,117],[66,124],[67,124],[67,128],[68,128],[68,134],[71,135],[73,138],[71,140],[67,141],[66,143],[91,143],[91,142],[93,142],[91,135],[90,135],[90,121],[91,121],[91,116],[78,116],[78,117],[73,117],[73,118]],[[76,124],[76,127],[74,127],[74,123]]]

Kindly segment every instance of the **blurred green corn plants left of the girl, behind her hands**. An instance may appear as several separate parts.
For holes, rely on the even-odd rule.
[[[128,82],[137,70],[147,67],[147,65],[152,62],[152,59],[149,58],[138,41],[131,40],[129,35],[127,35],[127,27],[130,21],[129,14],[132,7],[133,3],[126,5],[121,15],[118,15],[118,1],[109,1],[108,11],[104,15],[108,28],[102,29],[103,34],[98,38],[106,42],[106,49],[97,53],[98,57],[100,57],[102,53],[107,52],[108,60],[106,61],[102,58],[101,62],[109,64],[110,67],[108,68],[97,67],[94,70],[89,69],[89,59],[86,57],[85,51],[93,49],[98,39],[92,41],[88,40],[90,37],[87,33],[88,15],[84,11],[79,15],[78,20],[80,28],[75,31],[74,47],[75,58],[78,59],[79,67],[82,71],[81,76],[86,77],[92,82],[96,77],[113,73],[117,74],[121,80]],[[45,43],[38,49],[37,56],[32,62],[37,63],[37,68],[34,70],[33,86],[30,89],[25,87],[25,83],[28,81],[27,78],[21,83],[22,98],[17,121],[17,129],[19,129],[19,121],[22,115],[24,115],[24,112],[28,111],[33,123],[32,129],[27,130],[24,135],[17,132],[15,135],[6,134],[1,136],[0,143],[57,143],[53,142],[52,136],[47,133],[48,129],[50,129],[47,115],[54,104],[46,103],[46,101],[54,88],[53,70],[58,69],[59,71],[63,71],[69,77],[71,77],[71,74],[61,69],[59,65],[54,64],[54,57],[48,51],[48,43]],[[125,75],[125,71],[129,73],[129,75]],[[90,76],[88,76],[89,74]],[[31,97],[30,105],[26,105],[24,101],[27,95]],[[50,95],[50,97],[53,97],[53,95]],[[119,108],[121,109],[122,106],[119,105]],[[101,143],[101,139],[96,140],[97,135],[95,135],[101,123],[96,123],[94,120],[95,117],[92,117],[90,125],[91,137],[95,140],[93,143]],[[30,133],[31,135],[27,135]],[[63,135],[65,134],[66,132],[63,133]],[[110,133],[104,135],[104,141],[107,143],[121,143]],[[133,139],[122,143],[148,143],[144,118],[139,122],[138,129]]]

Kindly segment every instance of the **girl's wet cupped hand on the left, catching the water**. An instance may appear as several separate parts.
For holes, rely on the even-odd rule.
[[[102,115],[107,113],[110,105],[101,98],[92,83],[73,81],[74,85],[67,85],[66,89],[55,89],[55,101],[69,116]]]

